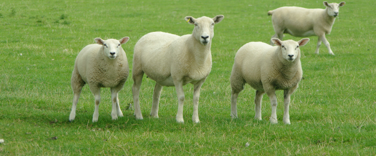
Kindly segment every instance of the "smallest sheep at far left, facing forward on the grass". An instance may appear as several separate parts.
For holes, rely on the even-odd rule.
[[[111,88],[112,120],[123,116],[120,110],[118,92],[123,88],[129,75],[126,53],[121,44],[128,42],[129,37],[120,40],[101,38],[94,39],[97,44],[85,46],[77,55],[71,77],[74,93],[69,121],[76,117],[76,106],[82,87],[88,83],[95,97],[95,109],[92,122],[98,121],[100,88]]]

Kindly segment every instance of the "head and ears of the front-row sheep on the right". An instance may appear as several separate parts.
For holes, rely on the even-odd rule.
[[[301,39],[298,42],[293,40],[281,41],[277,38],[271,39],[271,42],[276,46],[281,47],[282,57],[289,62],[294,62],[294,60],[300,56],[300,46],[304,46],[309,42],[308,38]]]

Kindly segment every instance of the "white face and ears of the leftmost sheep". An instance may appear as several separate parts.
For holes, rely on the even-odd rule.
[[[120,52],[120,49],[121,49],[120,45],[128,42],[129,37],[123,37],[120,40],[115,40],[115,39],[103,40],[98,37],[98,38],[95,38],[94,40],[97,44],[103,45],[105,56],[107,56],[109,59],[115,59],[116,56]]]

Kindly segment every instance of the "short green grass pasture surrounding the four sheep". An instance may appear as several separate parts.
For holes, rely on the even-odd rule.
[[[248,85],[238,98],[239,118],[230,118],[235,53],[248,42],[269,42],[274,30],[267,11],[280,6],[324,8],[321,1],[293,0],[3,0],[0,139],[5,142],[0,155],[376,155],[376,16],[371,0],[347,1],[340,8],[327,35],[335,56],[324,45],[315,55],[315,36],[301,48],[304,79],[291,96],[291,125],[282,122],[282,91],[277,92],[279,123],[269,122],[267,96],[263,120],[254,120],[255,90]],[[143,120],[126,109],[133,103],[129,77],[119,93],[124,117],[111,120],[111,94],[103,88],[99,121],[92,123],[94,96],[85,86],[76,120],[68,122],[74,59],[94,38],[129,36],[122,47],[132,71],[133,47],[144,34],[190,34],[193,26],[185,16],[220,14],[224,19],[214,29],[212,71],[201,89],[200,123],[191,121],[190,84],[184,86],[184,124],[175,121],[173,87],[162,91],[159,119],[150,118],[155,82],[146,76],[140,93]],[[284,39],[300,38],[286,34]]]

